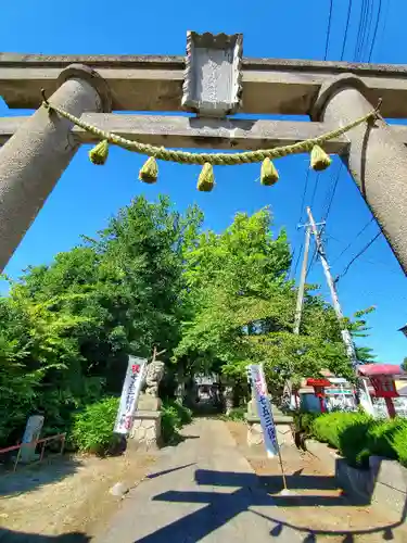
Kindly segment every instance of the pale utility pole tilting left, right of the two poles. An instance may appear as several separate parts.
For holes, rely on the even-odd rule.
[[[327,256],[326,256],[326,253],[323,250],[322,240],[320,238],[320,235],[319,235],[318,229],[317,229],[317,225],[315,224],[313,213],[311,213],[309,207],[307,207],[307,214],[308,214],[308,218],[309,218],[310,228],[311,228],[313,235],[315,237],[315,241],[317,243],[317,252],[318,252],[319,258],[320,258],[321,264],[322,264],[323,274],[326,276],[327,283],[328,283],[329,290],[331,292],[333,308],[334,308],[334,312],[336,314],[338,320],[341,324],[341,328],[342,328],[341,334],[342,334],[342,340],[343,340],[345,349],[346,349],[346,354],[351,361],[353,369],[355,370],[355,372],[357,372],[358,359],[356,356],[355,344],[353,342],[349,330],[347,330],[346,328],[343,328],[343,313],[342,313],[342,308],[341,308],[341,305],[339,302],[336,287],[335,287],[334,280],[332,279],[331,270],[330,270],[330,267],[329,267],[329,264],[327,261]],[[371,397],[370,397],[369,391],[367,389],[366,381],[364,379],[363,379],[363,382],[364,382],[365,392],[367,394],[367,400],[369,402],[369,407],[372,408]]]

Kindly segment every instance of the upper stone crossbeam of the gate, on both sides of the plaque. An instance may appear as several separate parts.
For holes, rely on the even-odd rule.
[[[0,53],[0,96],[10,108],[37,109],[43,87],[51,96],[61,70],[91,66],[106,80],[113,110],[180,111],[183,56],[35,55]],[[383,99],[384,117],[407,117],[407,66],[346,62],[244,59],[245,113],[308,114],[323,84],[352,73],[366,84],[369,101]]]

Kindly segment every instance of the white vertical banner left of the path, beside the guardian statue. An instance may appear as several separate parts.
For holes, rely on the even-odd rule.
[[[120,404],[118,406],[114,432],[127,434],[131,429],[141,387],[145,377],[147,358],[128,357],[128,366],[123,383]]]

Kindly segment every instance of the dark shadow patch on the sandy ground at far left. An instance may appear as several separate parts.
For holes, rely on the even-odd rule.
[[[75,473],[79,466],[80,460],[68,456],[55,456],[29,466],[18,465],[15,472],[0,477],[0,496],[30,492],[44,484],[54,483]]]

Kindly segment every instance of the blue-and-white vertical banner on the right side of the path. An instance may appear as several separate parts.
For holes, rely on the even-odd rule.
[[[262,366],[251,364],[249,367],[267,456],[272,457],[279,453],[279,445],[277,441],[275,421],[272,419],[271,403],[267,392],[266,379]]]

